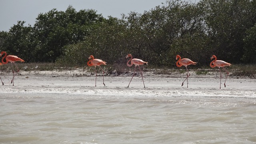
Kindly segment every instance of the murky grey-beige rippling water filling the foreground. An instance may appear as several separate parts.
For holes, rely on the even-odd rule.
[[[3,144],[256,142],[254,98],[80,94],[0,98],[0,143]]]

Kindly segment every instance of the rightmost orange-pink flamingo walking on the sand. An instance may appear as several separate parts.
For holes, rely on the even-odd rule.
[[[220,70],[220,67],[222,67],[226,72],[227,72],[227,76],[226,76],[226,80],[228,78],[228,71],[224,68],[224,66],[231,66],[230,63],[228,62],[224,62],[223,60],[217,60],[217,57],[215,55],[212,55],[211,60],[215,58],[211,63],[210,63],[210,67],[214,68],[215,66],[217,66]],[[224,82],[224,86],[226,88],[226,80]],[[220,72],[220,86],[221,86],[221,72]]]

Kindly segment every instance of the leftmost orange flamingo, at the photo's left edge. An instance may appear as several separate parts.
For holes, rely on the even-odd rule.
[[[16,74],[20,71],[18,66],[16,65],[16,61],[20,61],[20,62],[25,62],[24,60],[22,60],[21,58],[18,58],[18,56],[13,56],[13,55],[8,55],[6,54],[6,52],[1,52],[0,57],[2,57],[2,55],[4,54],[4,57],[2,58],[2,63],[3,64],[7,64],[8,62],[10,62],[11,64],[14,63],[16,68],[17,68],[17,72]],[[6,60],[6,62],[4,62],[4,58]],[[12,81],[11,84],[12,86],[14,86],[14,77],[16,76],[16,74],[14,75],[14,68],[12,65],[12,72],[13,72],[13,77],[12,77]],[[2,82],[2,84],[4,85],[4,83]]]

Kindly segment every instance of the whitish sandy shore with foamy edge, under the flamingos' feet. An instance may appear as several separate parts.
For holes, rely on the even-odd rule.
[[[127,88],[131,74],[123,76],[104,76],[105,84],[102,84],[102,73],[97,76],[95,87],[95,74],[82,70],[56,71],[21,71],[14,79],[14,86],[10,83],[12,73],[1,73],[4,86],[0,86],[3,96],[24,95],[97,95],[124,97],[169,97],[169,96],[232,96],[256,98],[256,80],[250,78],[234,78],[228,76],[226,88],[222,79],[221,89],[219,73],[212,75],[196,75],[192,72],[186,82],[181,86],[186,74],[154,75],[152,72],[144,73],[143,86],[140,75],[134,76],[130,87]],[[139,74],[139,73],[138,73]]]

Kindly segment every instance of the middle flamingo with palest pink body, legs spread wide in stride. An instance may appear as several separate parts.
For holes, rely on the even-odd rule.
[[[128,54],[128,55],[126,56],[126,58],[128,58],[128,57],[131,57],[131,59],[128,60],[127,66],[130,66],[130,67],[131,67],[133,64],[135,65],[134,73],[133,73],[133,76],[132,76],[132,78],[133,78],[134,75],[135,75],[136,66],[138,66],[138,67],[139,67],[139,70],[140,70],[140,65],[142,65],[142,64],[148,64],[148,62],[144,62],[143,60],[140,60],[140,59],[138,59],[138,58],[132,58],[132,55],[131,55],[131,54]],[[129,62],[131,62],[131,64],[129,64]],[[141,72],[141,76],[142,76],[142,71],[140,70],[140,72]],[[131,81],[132,81],[132,79],[130,80],[130,83],[131,83]],[[142,76],[142,81],[143,81],[143,84],[144,84],[143,76]],[[128,84],[127,88],[129,88],[130,83]],[[144,88],[146,88],[146,87],[145,87],[145,84],[144,84]]]

